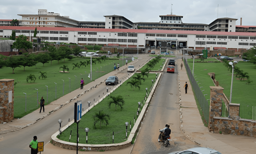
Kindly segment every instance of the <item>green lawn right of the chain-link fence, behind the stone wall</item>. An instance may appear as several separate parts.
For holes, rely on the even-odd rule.
[[[193,63],[188,63],[189,67],[193,68]],[[238,77],[234,76],[233,80],[233,90],[232,90],[232,103],[237,103],[241,105],[256,106],[254,94],[256,92],[256,67],[251,63],[239,63],[236,65],[244,72],[248,72],[250,80],[253,81],[250,85],[246,85],[246,81],[237,80]],[[204,70],[207,69],[207,70]],[[224,88],[224,93],[229,99],[230,97],[230,87],[231,87],[231,72],[227,70],[227,67],[223,63],[194,63],[194,77],[199,86],[202,87],[201,90],[206,99],[210,99],[210,87],[214,86],[213,81],[207,74],[209,72],[215,73],[215,79],[219,81],[219,85]]]

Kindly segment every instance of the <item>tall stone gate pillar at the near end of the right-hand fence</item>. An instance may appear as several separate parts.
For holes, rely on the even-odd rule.
[[[210,112],[209,112],[209,131],[213,130],[213,117],[221,117],[222,113],[222,97],[223,97],[223,87],[210,86]]]

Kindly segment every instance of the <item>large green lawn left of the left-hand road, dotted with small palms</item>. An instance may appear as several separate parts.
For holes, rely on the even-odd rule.
[[[55,99],[55,83],[57,83],[57,99],[62,97],[63,95],[63,81],[65,82],[64,85],[64,95],[69,93],[69,78],[71,78],[71,86],[70,91],[73,91],[80,87],[80,80],[81,78],[84,78],[85,84],[90,82],[90,78],[88,78],[89,72],[90,72],[90,64],[86,67],[83,66],[80,68],[76,68],[72,70],[73,63],[79,63],[80,61],[85,61],[85,59],[81,58],[75,58],[71,61],[68,61],[68,59],[65,60],[65,62],[59,61],[59,64],[57,61],[53,61],[52,65],[51,62],[48,64],[45,64],[43,67],[42,63],[38,63],[33,67],[25,67],[25,71],[23,70],[23,67],[17,67],[14,69],[14,74],[12,74],[12,68],[11,67],[5,67],[0,69],[0,79],[15,79],[15,82],[18,82],[14,88],[14,118],[21,118],[37,108],[37,90],[38,89],[38,101],[40,101],[41,97],[43,96],[45,99],[45,104],[49,104],[50,102],[56,100]],[[128,61],[130,62],[130,61]],[[93,81],[100,76],[103,76],[111,71],[114,70],[114,63],[119,63],[120,67],[122,65],[122,62],[120,60],[106,60],[100,63],[96,62],[96,65],[92,65],[92,79]],[[62,71],[59,67],[62,67],[63,65],[66,65],[69,67],[70,73],[61,73],[59,71]],[[100,66],[102,68],[100,68]],[[39,79],[39,71],[47,72],[46,79]],[[86,71],[86,73],[85,73]],[[96,72],[98,71],[98,72]],[[102,72],[100,72],[102,71]],[[27,83],[26,78],[28,75],[34,74],[36,77],[36,81],[33,83]],[[82,74],[82,75],[81,75]],[[76,76],[76,77],[75,77]],[[48,103],[47,103],[47,87],[48,86]],[[84,89],[87,88],[84,86]],[[27,112],[25,112],[25,94],[27,93]]]

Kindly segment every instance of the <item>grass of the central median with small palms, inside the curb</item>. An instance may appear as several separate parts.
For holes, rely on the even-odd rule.
[[[149,74],[149,77],[145,77],[146,81],[140,85],[139,88],[133,89],[126,85],[126,82],[131,80],[128,79],[122,86],[118,87],[113,93],[109,96],[117,96],[121,95],[124,98],[125,104],[123,106],[122,111],[120,107],[117,106],[117,110],[115,110],[115,105],[112,104],[111,108],[108,107],[108,101],[110,101],[109,96],[104,98],[98,105],[93,107],[90,112],[87,112],[84,116],[82,116],[79,122],[79,143],[86,144],[86,132],[84,129],[88,127],[90,132],[88,132],[88,144],[112,144],[112,135],[114,131],[114,143],[121,143],[126,141],[125,139],[125,122],[132,121],[132,127],[134,126],[133,120],[134,116],[137,119],[137,110],[138,110],[138,102],[144,100],[146,90],[145,88],[149,88],[152,84],[152,79],[156,78],[156,74]],[[95,115],[95,112],[99,110],[103,110],[105,113],[110,114],[109,125],[102,124],[101,128],[99,126],[99,122],[96,124],[96,128],[94,129],[94,120],[92,118]],[[61,140],[69,141],[70,131],[72,130],[71,140],[70,142],[76,143],[76,123],[69,126],[66,130],[62,132],[60,136]],[[128,126],[127,137],[130,134],[130,126]]]

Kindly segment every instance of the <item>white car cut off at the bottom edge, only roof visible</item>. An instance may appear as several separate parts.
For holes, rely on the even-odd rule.
[[[169,154],[221,154],[220,152],[207,147],[195,147],[184,151],[174,151]]]

